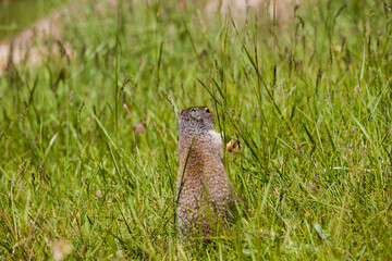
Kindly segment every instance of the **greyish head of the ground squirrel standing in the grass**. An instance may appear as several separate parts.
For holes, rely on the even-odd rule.
[[[180,111],[180,134],[204,133],[213,129],[215,116],[207,107],[191,107]]]

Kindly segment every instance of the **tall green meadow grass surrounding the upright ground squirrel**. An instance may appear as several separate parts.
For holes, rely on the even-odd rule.
[[[391,2],[94,2],[63,16],[74,55],[0,76],[0,259],[391,259]],[[207,246],[174,222],[176,113],[201,104],[253,210]]]

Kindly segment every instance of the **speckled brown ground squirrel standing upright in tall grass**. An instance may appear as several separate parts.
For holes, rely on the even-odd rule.
[[[185,235],[213,235],[232,221],[236,196],[223,165],[223,142],[213,128],[213,113],[206,107],[180,111],[176,181],[177,222]],[[185,170],[184,170],[185,169]]]

